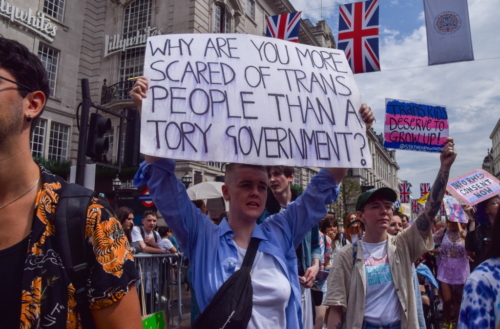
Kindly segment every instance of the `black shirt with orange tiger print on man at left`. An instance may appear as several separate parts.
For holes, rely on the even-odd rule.
[[[41,165],[38,191],[22,276],[20,328],[81,328],[74,288],[64,270],[55,234],[54,214],[66,182]],[[121,299],[138,272],[119,221],[103,201],[93,198],[87,208],[85,240],[90,275],[90,309]]]

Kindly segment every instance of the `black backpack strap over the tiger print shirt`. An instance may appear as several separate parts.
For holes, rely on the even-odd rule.
[[[87,299],[86,283],[90,274],[87,263],[85,224],[87,208],[96,193],[77,184],[67,184],[59,195],[55,211],[55,236],[59,257],[75,289],[75,301],[84,329],[95,328]]]

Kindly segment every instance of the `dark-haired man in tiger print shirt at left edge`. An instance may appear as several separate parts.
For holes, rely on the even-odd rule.
[[[81,328],[89,318],[80,316],[83,300],[75,300],[75,287],[61,264],[67,246],[56,239],[61,230],[54,214],[67,184],[34,162],[29,148],[30,131],[48,95],[38,57],[0,36],[2,328]],[[137,272],[119,222],[97,198],[81,217],[86,218],[90,268],[83,294],[93,319],[89,321],[96,328],[141,328]]]

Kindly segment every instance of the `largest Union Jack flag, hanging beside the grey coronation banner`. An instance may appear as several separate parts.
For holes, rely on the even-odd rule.
[[[378,0],[340,5],[338,49],[345,52],[353,73],[380,71]]]

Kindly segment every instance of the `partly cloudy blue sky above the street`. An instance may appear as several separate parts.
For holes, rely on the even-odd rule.
[[[339,0],[290,0],[302,18],[328,22],[338,36]],[[357,1],[353,1],[357,2]],[[449,134],[457,157],[450,178],[481,168],[491,148],[489,135],[500,111],[500,33],[498,0],[468,0],[474,61],[427,66],[427,41],[422,0],[379,0],[380,72],[355,74],[361,100],[373,111],[373,129],[383,132],[385,98],[447,107]],[[396,151],[398,177],[413,186],[433,183],[439,154]]]

